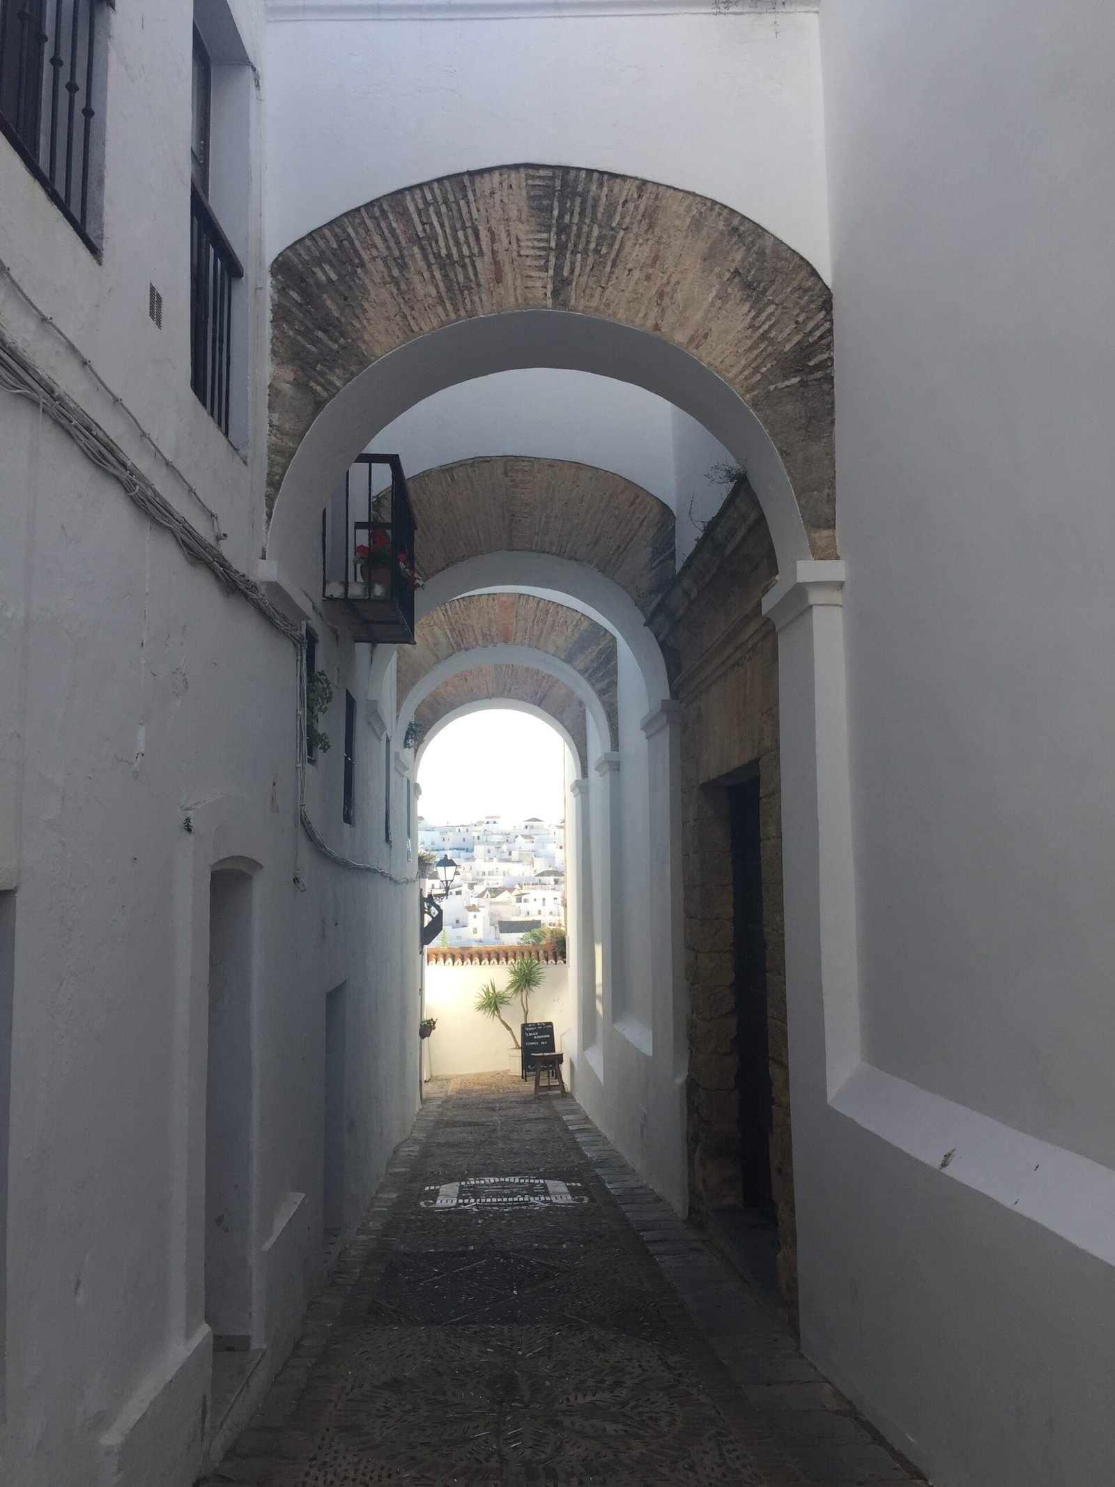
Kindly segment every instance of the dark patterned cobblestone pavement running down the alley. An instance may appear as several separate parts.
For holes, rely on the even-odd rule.
[[[473,1075],[205,1487],[916,1481],[572,1099]]]

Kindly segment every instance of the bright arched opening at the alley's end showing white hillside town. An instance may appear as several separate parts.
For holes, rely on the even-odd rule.
[[[418,840],[442,932],[425,949],[424,1078],[522,1077],[523,1038],[544,1035],[558,1053],[575,1038],[566,962],[575,745],[534,705],[462,705],[453,691],[440,709],[437,691],[431,697],[434,706],[416,712]]]

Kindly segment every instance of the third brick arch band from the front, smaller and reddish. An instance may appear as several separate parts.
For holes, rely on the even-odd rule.
[[[419,620],[415,644],[398,650],[398,696],[439,662],[485,645],[528,645],[584,677],[618,735],[615,636],[578,610],[529,593],[471,593]]]

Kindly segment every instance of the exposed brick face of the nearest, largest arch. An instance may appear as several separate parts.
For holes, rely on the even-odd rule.
[[[387,354],[507,311],[558,309],[687,351],[766,428],[810,550],[836,553],[831,296],[758,223],[604,171],[505,165],[392,192],[272,265],[269,497],[314,419]]]

